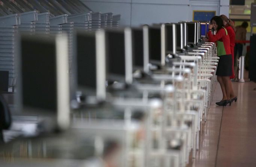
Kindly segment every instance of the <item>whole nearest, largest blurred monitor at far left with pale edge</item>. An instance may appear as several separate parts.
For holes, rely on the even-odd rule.
[[[17,38],[17,108],[20,114],[57,118],[69,124],[68,38],[21,35]],[[55,121],[56,122],[56,121]]]

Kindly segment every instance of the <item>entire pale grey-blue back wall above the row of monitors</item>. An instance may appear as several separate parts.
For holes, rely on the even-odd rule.
[[[193,11],[229,13],[229,0],[81,0],[94,12],[120,14],[120,26],[192,21]],[[222,5],[220,5],[220,3]]]

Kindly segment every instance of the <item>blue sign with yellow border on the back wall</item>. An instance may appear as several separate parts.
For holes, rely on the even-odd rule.
[[[193,21],[210,21],[216,11],[193,11]]]

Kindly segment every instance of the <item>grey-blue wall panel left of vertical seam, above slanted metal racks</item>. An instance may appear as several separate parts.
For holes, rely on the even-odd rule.
[[[109,2],[86,2],[94,12],[113,12],[113,15],[121,14],[120,26],[130,26],[131,4],[130,3],[109,3]]]

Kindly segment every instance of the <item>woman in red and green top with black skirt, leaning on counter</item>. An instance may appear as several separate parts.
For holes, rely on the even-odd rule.
[[[228,103],[231,105],[235,95],[231,95],[232,83],[230,81],[230,75],[232,75],[232,54],[230,49],[230,39],[227,30],[223,26],[221,17],[214,16],[211,19],[207,34],[209,42],[216,42],[217,56],[220,57],[216,75],[217,80],[220,83],[223,97],[221,101],[216,102],[216,104],[226,106]],[[216,35],[212,35],[212,29],[217,30]]]

